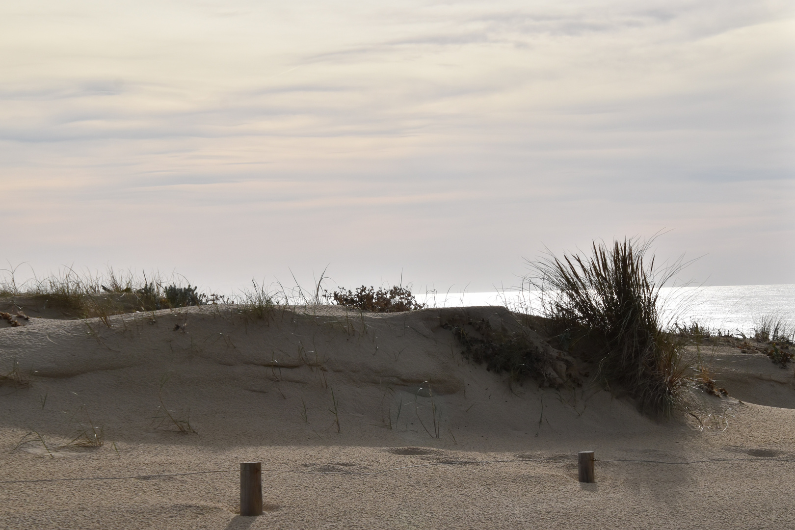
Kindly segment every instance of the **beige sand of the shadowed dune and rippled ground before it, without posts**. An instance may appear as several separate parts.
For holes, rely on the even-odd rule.
[[[656,421],[467,362],[441,326],[456,311],[512,319],[204,306],[4,325],[0,528],[795,528],[792,366],[705,350],[731,397],[694,390],[692,415]],[[91,426],[101,447],[81,445]],[[577,482],[585,450],[595,484]],[[657,463],[700,460],[719,461]],[[236,513],[249,461],[259,517]],[[197,471],[219,472],[145,476]]]

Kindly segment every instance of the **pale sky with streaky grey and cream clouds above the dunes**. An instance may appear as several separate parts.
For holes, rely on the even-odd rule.
[[[488,291],[638,236],[795,283],[795,5],[0,6],[0,268]]]

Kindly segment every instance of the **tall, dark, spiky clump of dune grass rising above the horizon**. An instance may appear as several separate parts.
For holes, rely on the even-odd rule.
[[[684,342],[663,330],[660,288],[681,260],[656,269],[650,242],[593,242],[591,256],[550,255],[531,263],[529,281],[542,293],[552,327],[588,342],[597,377],[608,388],[630,393],[642,411],[669,416],[681,404],[689,366]]]

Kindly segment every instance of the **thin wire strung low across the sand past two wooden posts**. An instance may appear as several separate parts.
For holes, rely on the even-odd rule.
[[[295,473],[305,475],[379,475],[391,473],[398,470],[410,470],[417,467],[430,467],[430,466],[468,466],[471,464],[498,464],[504,462],[549,462],[556,460],[574,460],[576,458],[518,458],[510,460],[463,460],[461,462],[432,462],[429,464],[415,464],[413,466],[390,467],[386,470],[380,471],[297,471],[297,470],[270,470],[264,469],[262,473]],[[684,466],[690,464],[702,464],[707,462],[795,462],[795,458],[712,458],[709,460],[692,460],[688,462],[665,462],[663,460],[633,460],[633,459],[616,459],[616,460],[595,460],[595,462],[640,462],[649,464],[666,464],[670,466]],[[130,478],[158,478],[158,477],[185,477],[188,475],[210,474],[210,473],[237,473],[239,470],[211,470],[211,471],[192,471],[189,473],[161,473],[149,475],[130,475],[126,477],[83,477],[83,478],[37,478],[29,480],[4,480],[0,484],[21,484],[29,482],[71,482],[83,480],[126,480]]]

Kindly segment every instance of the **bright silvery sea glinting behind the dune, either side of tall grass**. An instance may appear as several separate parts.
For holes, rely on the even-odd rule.
[[[540,314],[536,292],[465,292],[417,296],[436,307],[504,305]],[[795,284],[663,288],[661,310],[669,323],[698,322],[715,330],[753,335],[762,319],[795,328]]]

